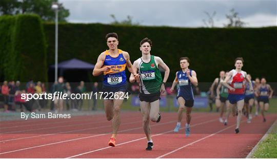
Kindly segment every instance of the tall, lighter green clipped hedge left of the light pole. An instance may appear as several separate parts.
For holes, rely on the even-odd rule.
[[[47,82],[46,42],[42,20],[37,15],[2,16],[0,26],[9,25],[9,33],[1,27],[0,32],[6,35],[1,40],[1,54],[6,55],[3,62],[5,80],[26,82]],[[11,34],[10,34],[11,33]]]

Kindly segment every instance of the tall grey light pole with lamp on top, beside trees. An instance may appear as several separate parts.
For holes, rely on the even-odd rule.
[[[58,4],[52,3],[51,8],[55,11],[55,82],[57,82]]]

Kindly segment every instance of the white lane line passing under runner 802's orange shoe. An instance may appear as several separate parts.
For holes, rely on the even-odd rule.
[[[195,118],[194,118],[194,119],[195,119]],[[216,119],[212,119],[212,120],[209,120],[209,121],[206,121],[206,122],[201,122],[201,123],[198,123],[198,124],[191,125],[190,127],[194,127],[194,126],[206,124],[206,123],[213,122],[213,121],[216,121],[216,120],[218,120],[218,119],[216,118]],[[176,121],[174,121],[174,122],[176,122]],[[181,128],[181,129],[184,129],[184,128]],[[155,135],[152,135],[152,137],[156,137],[156,136],[159,136],[159,135],[162,135],[162,134],[165,134],[165,133],[169,133],[169,132],[173,132],[173,130],[166,131],[166,132],[159,133],[159,134],[155,134]],[[121,143],[121,144],[117,144],[117,146],[119,146],[119,145],[124,145],[124,144],[128,144],[128,143],[135,142],[135,141],[139,141],[139,140],[142,140],[142,139],[146,139],[146,137],[140,138],[140,139],[131,140],[131,141],[128,141],[128,142],[125,142],[125,143]],[[92,152],[96,152],[96,151],[101,151],[101,150],[108,149],[108,148],[111,148],[111,147],[108,146],[108,147],[104,147],[104,148],[101,148],[101,149],[96,149],[96,150],[92,150],[92,151],[88,151],[88,152],[76,154],[76,155],[69,156],[69,157],[66,157],[66,158],[73,158],[73,157],[81,156],[81,155],[88,154],[88,153],[92,153]]]

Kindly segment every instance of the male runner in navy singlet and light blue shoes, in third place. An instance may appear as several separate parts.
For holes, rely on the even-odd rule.
[[[176,72],[176,77],[171,86],[171,92],[173,91],[175,85],[179,83],[179,89],[177,93],[177,100],[179,103],[177,124],[174,128],[174,132],[178,132],[181,127],[181,121],[183,118],[183,110],[186,106],[186,115],[187,115],[187,123],[186,123],[186,137],[190,134],[190,121],[191,121],[191,110],[194,103],[192,84],[196,87],[198,85],[198,81],[196,78],[196,72],[188,69],[189,66],[189,58],[181,57],[180,58],[180,66],[181,71]]]

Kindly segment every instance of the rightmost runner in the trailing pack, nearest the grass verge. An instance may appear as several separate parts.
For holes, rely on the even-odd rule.
[[[261,79],[261,85],[257,88],[256,96],[258,96],[258,102],[261,107],[261,113],[263,116],[263,122],[266,122],[264,111],[268,110],[269,99],[272,98],[273,89],[269,84],[266,84],[266,79]]]

